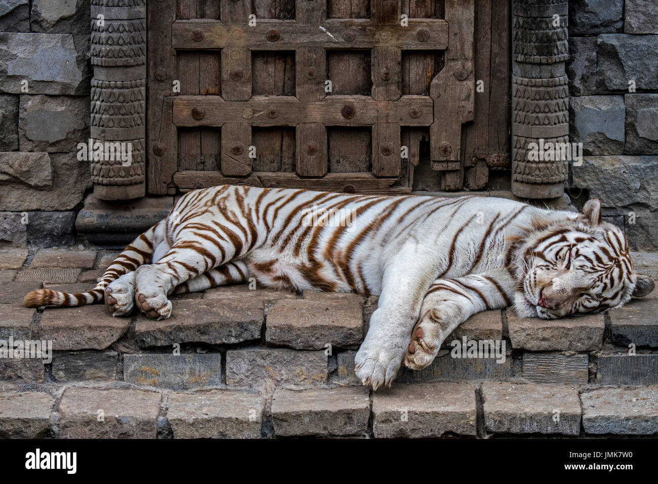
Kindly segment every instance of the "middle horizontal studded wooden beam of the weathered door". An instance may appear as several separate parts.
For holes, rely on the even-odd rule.
[[[192,116],[197,106],[205,111],[202,119]],[[178,96],[174,101],[176,126],[221,126],[236,120],[253,126],[297,126],[300,120],[325,126],[369,126],[382,120],[403,126],[429,126],[434,113],[432,99],[421,95],[402,96],[399,101],[338,95],[311,102],[288,96],[254,96],[244,102],[224,101],[218,96]]]

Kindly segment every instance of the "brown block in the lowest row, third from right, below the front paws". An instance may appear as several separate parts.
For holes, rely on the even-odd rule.
[[[377,390],[372,398],[372,431],[378,438],[476,435],[476,385],[413,383]]]

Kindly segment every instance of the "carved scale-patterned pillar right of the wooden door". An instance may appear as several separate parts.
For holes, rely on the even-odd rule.
[[[567,161],[538,159],[538,150],[530,151],[533,143],[569,142],[568,7],[568,0],[513,3],[512,192],[524,198],[565,191]]]

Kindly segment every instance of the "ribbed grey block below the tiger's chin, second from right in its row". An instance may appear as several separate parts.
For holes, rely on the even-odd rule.
[[[524,352],[523,378],[532,383],[585,385],[589,376],[587,354]]]

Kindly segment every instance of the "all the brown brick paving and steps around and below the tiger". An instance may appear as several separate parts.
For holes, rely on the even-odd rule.
[[[0,345],[0,437],[155,438],[163,419],[174,438],[658,435],[658,292],[607,315],[485,311],[372,392],[354,358],[376,296],[240,284],[174,296],[165,321],[22,307],[33,289],[88,290],[114,255],[0,250],[0,340],[53,344],[45,363]],[[463,340],[504,358],[455,358]]]

